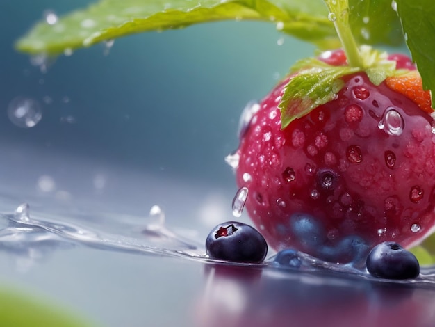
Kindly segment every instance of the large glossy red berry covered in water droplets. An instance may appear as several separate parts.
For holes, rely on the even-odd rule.
[[[340,53],[320,59],[344,65]],[[411,65],[397,58],[397,66]],[[340,247],[352,237],[368,249],[391,240],[410,246],[435,223],[431,116],[412,95],[386,81],[375,86],[365,72],[343,80],[336,99],[284,130],[280,83],[240,136],[237,184],[249,189],[245,208],[275,250],[345,262]],[[309,223],[295,224],[301,215]]]

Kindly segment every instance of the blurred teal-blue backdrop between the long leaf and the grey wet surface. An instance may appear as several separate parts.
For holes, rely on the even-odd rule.
[[[61,15],[91,2],[0,1],[0,143],[233,185],[224,156],[238,145],[240,112],[313,46],[274,24],[219,22],[132,35],[108,55],[104,45],[81,49],[58,57],[45,74],[13,49],[44,10]],[[35,127],[8,120],[18,96],[40,102]]]

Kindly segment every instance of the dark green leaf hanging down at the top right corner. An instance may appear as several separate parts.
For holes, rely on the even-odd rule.
[[[423,88],[431,90],[435,104],[435,1],[396,0],[405,40],[422,77]]]

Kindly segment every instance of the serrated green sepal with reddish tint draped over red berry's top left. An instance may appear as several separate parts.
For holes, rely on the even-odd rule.
[[[299,71],[302,67],[306,68]],[[286,85],[278,106],[281,110],[281,129],[321,104],[333,100],[344,86],[340,77],[359,70],[359,67],[327,65],[315,58],[296,63],[292,71],[297,71],[297,74]]]

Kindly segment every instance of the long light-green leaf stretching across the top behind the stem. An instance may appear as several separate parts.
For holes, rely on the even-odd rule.
[[[360,0],[351,0],[352,13],[361,10]],[[394,19],[382,14],[390,0],[365,0],[365,16],[351,22],[359,40],[374,44],[397,42]],[[372,5],[375,3],[375,5]],[[381,5],[377,4],[381,3]],[[39,22],[17,42],[17,49],[29,54],[60,54],[97,42],[144,31],[180,29],[191,24],[220,20],[256,20],[276,24],[277,29],[322,48],[339,46],[334,25],[322,0],[101,0],[88,8],[60,17],[55,24]],[[375,19],[381,17],[381,19]],[[376,29],[376,30],[375,30]],[[368,38],[364,38],[369,35]]]

